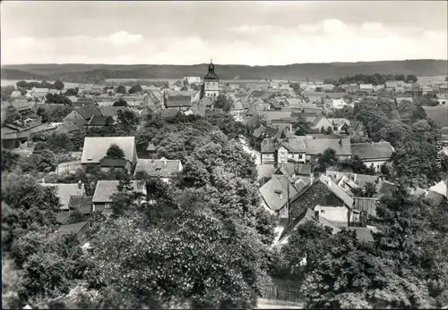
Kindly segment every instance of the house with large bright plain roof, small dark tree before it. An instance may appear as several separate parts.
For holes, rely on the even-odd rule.
[[[123,149],[125,152],[124,159],[131,163],[131,169],[128,173],[134,172],[137,164],[135,137],[86,137],[84,138],[84,147],[82,147],[81,163],[83,165],[100,165],[106,157],[108,148],[113,144]]]

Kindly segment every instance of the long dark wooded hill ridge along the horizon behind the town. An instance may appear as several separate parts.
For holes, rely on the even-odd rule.
[[[195,65],[154,64],[84,64],[47,63],[2,66],[2,79],[45,79],[78,83],[99,83],[106,79],[182,79],[185,76],[204,76],[207,63]],[[416,76],[446,75],[446,60],[406,60],[366,63],[296,63],[281,66],[246,66],[216,64],[222,80],[273,79],[323,80],[337,79],[356,74],[414,74]],[[39,77],[39,78],[36,78]]]

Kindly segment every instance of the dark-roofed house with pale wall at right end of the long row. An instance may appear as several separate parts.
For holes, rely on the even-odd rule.
[[[354,143],[351,145],[351,152],[352,155],[358,155],[367,167],[380,172],[383,163],[391,159],[394,149],[389,142]]]

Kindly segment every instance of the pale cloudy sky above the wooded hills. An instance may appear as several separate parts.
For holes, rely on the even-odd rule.
[[[445,1],[1,5],[13,63],[331,63],[447,59]]]

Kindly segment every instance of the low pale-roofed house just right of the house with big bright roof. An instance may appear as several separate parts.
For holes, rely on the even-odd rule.
[[[179,160],[161,159],[142,159],[137,160],[134,176],[142,174],[145,178],[160,179],[169,182],[173,177],[183,171],[182,163]]]

